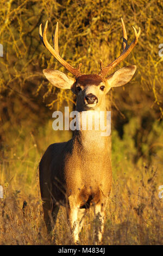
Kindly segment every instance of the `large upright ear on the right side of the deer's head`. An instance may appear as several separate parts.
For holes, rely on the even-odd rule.
[[[128,83],[133,75],[135,74],[136,66],[126,66],[122,69],[118,69],[113,74],[111,74],[106,80],[108,81],[108,86],[118,87],[124,86],[124,84]]]

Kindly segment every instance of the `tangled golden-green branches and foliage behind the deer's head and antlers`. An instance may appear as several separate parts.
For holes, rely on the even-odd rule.
[[[131,118],[138,118],[141,125],[148,123],[148,127],[152,127],[162,115],[162,58],[158,54],[158,46],[162,42],[162,8],[162,2],[156,0],[148,4],[141,0],[2,0],[1,147],[7,139],[8,130],[13,132],[14,137],[18,136],[17,128],[24,130],[28,126],[29,132],[34,132],[51,118],[50,109],[60,109],[61,105],[67,104],[73,107],[75,99],[72,93],[52,87],[42,74],[44,68],[65,71],[41,44],[39,25],[42,23],[44,26],[47,19],[49,42],[52,44],[50,35],[54,33],[58,21],[61,56],[73,66],[82,62],[82,72],[86,74],[99,72],[99,59],[107,65],[121,54],[121,16],[126,23],[129,42],[134,36],[131,26],[136,29],[141,27],[139,43],[117,67],[135,64],[137,72],[126,87],[112,89],[112,122],[118,133],[123,133],[123,125],[129,123]],[[148,153],[144,153],[150,147],[146,134],[143,135],[138,138],[141,140],[138,157],[141,154],[147,156]],[[123,136],[123,139],[126,137]],[[136,139],[130,143],[136,144]]]

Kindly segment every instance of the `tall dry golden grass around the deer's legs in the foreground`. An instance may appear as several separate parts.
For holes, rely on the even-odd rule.
[[[158,176],[146,167],[133,170],[133,177],[118,176],[113,182],[106,211],[102,245],[162,245],[162,199],[158,197]],[[134,177],[135,176],[135,177]],[[5,185],[0,208],[1,245],[70,245],[71,235],[66,223],[65,208],[60,209],[52,236],[47,236],[43,222],[39,186],[36,194],[26,195]],[[98,243],[100,228],[93,209],[86,214],[80,233],[80,245]]]

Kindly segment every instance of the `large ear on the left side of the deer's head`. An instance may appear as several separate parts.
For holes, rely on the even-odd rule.
[[[71,86],[75,82],[74,78],[66,76],[58,70],[43,69],[43,74],[46,76],[47,80],[57,88],[71,89]]]

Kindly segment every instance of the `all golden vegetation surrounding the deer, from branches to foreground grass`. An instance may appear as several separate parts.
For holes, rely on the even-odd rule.
[[[135,64],[133,80],[109,94],[114,180],[103,244],[162,244],[162,10],[161,0],[1,0],[0,244],[70,243],[64,209],[52,239],[45,233],[37,166],[49,144],[71,138],[71,132],[52,130],[52,113],[67,105],[73,108],[75,98],[52,87],[42,74],[44,68],[67,71],[41,44],[40,23],[48,19],[52,44],[58,21],[61,56],[73,66],[82,62],[83,73],[96,74],[100,58],[107,65],[122,52],[121,17],[129,42],[132,26],[141,27],[141,35],[117,67]],[[98,221],[88,215],[80,243],[94,244],[98,228]]]

